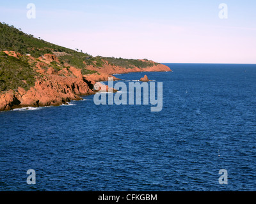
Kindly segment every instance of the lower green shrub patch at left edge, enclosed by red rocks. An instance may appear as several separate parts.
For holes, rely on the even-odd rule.
[[[17,59],[0,52],[0,91],[16,91],[18,87],[28,90],[35,85],[36,74],[26,57]]]

